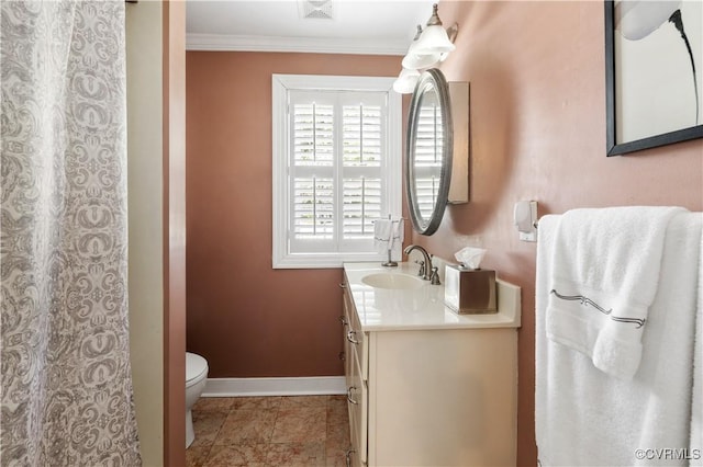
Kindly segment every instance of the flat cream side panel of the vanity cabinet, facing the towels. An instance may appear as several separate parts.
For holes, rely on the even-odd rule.
[[[517,332],[371,332],[369,465],[515,465]]]

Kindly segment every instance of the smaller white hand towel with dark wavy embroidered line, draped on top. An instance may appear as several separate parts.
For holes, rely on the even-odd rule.
[[[555,237],[547,337],[632,378],[659,284],[665,232],[681,207],[573,209]]]

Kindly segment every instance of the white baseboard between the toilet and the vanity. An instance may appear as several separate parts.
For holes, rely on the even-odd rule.
[[[344,376],[208,378],[202,397],[322,396],[347,394]]]

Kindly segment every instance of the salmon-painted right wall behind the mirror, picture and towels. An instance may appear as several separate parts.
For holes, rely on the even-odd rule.
[[[486,266],[522,287],[518,465],[534,466],[536,243],[517,240],[513,204],[535,200],[540,216],[615,205],[702,210],[703,140],[605,157],[600,1],[443,1],[439,16],[460,27],[440,68],[470,82],[471,202],[412,241],[448,259],[481,242]]]

